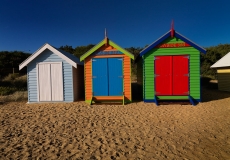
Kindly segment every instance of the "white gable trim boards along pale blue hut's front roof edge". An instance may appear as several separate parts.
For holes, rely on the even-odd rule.
[[[19,65],[19,70],[21,70],[23,67],[27,66],[32,60],[34,60],[38,55],[40,55],[45,49],[49,49],[50,51],[52,51],[53,53],[57,54],[62,59],[66,60],[73,67],[77,68],[77,63],[76,62],[74,62],[73,60],[71,60],[70,58],[68,58],[64,54],[62,54],[60,51],[58,51],[57,49],[55,49],[54,47],[52,47],[51,45],[49,45],[48,43],[46,43],[41,48],[39,48],[36,52],[34,52],[34,54],[32,54],[25,61],[23,61]]]

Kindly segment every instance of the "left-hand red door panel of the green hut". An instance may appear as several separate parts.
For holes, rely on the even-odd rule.
[[[172,56],[155,57],[155,94],[172,95]]]

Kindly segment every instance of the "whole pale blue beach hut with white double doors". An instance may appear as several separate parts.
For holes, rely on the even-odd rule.
[[[84,67],[72,54],[43,45],[19,65],[27,66],[28,103],[73,102],[84,94]]]

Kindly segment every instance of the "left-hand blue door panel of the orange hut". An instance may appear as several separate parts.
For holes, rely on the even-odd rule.
[[[93,96],[108,96],[107,58],[92,59]]]

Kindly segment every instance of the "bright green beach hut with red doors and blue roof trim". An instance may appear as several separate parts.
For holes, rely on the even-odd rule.
[[[175,31],[162,35],[136,58],[144,102],[201,101],[200,53],[206,50]]]

